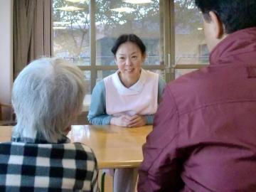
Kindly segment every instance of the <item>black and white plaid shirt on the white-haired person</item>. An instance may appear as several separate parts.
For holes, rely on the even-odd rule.
[[[1,143],[0,191],[99,191],[95,155],[80,143]]]

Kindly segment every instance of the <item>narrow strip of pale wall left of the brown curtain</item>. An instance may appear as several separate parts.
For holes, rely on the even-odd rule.
[[[11,102],[13,83],[13,0],[0,0],[0,102]]]

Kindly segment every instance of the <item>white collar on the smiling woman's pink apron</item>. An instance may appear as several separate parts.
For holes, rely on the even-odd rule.
[[[117,70],[116,73],[113,74],[113,82],[114,82],[114,87],[117,88],[117,91],[119,92],[120,95],[137,95],[139,92],[142,91],[144,84],[146,82],[146,71],[141,70],[141,73],[139,75],[139,80],[132,85],[131,87],[127,88],[124,87],[122,84],[121,80],[119,79],[119,73],[120,71]]]

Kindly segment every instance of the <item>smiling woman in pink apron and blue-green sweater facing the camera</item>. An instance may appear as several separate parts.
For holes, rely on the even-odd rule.
[[[117,38],[111,49],[118,70],[92,91],[88,119],[91,124],[141,127],[152,124],[165,82],[142,69],[146,47],[134,34]],[[114,191],[134,191],[137,169],[116,169]]]

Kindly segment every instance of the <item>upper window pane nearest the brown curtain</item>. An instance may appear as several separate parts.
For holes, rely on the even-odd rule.
[[[53,55],[90,65],[89,1],[53,1]]]

